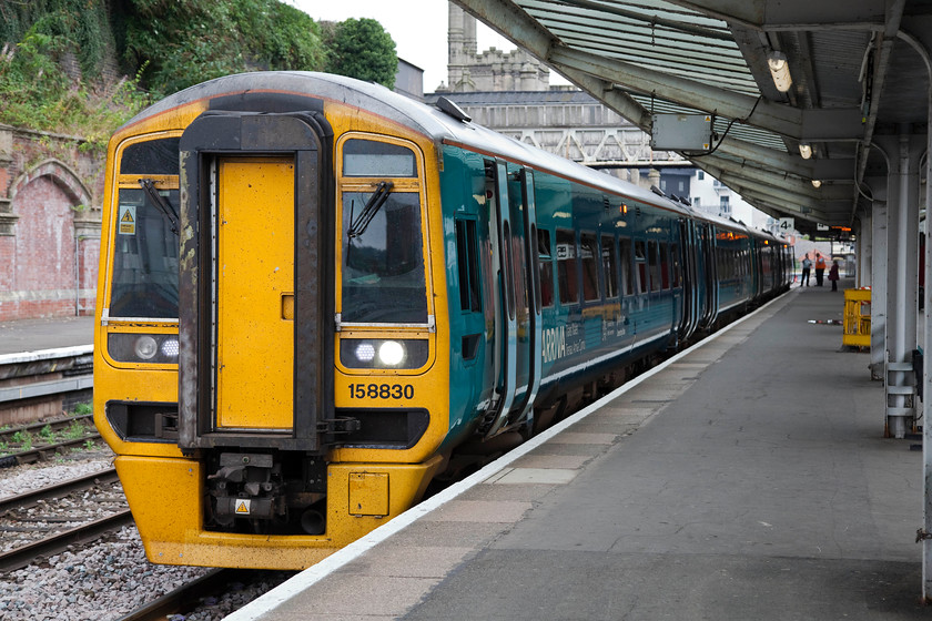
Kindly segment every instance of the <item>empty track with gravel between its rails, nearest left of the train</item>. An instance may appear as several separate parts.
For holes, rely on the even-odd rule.
[[[37,558],[54,556],[69,546],[85,544],[131,525],[132,516],[118,483],[111,468],[0,500],[0,541],[6,540],[0,572],[20,569]],[[63,500],[75,497],[74,502]],[[102,505],[109,506],[103,510],[110,515],[94,515]],[[74,522],[77,526],[72,526]]]

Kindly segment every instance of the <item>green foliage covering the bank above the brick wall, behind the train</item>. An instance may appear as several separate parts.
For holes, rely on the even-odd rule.
[[[278,0],[0,0],[0,123],[91,150],[153,99],[221,75],[332,71],[392,88],[397,67],[378,22],[346,20],[324,37]],[[113,77],[114,59],[134,78]]]

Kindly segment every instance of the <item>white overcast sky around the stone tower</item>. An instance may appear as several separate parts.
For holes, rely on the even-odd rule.
[[[424,91],[434,92],[447,73],[448,4],[444,0],[286,0],[315,20],[371,18],[395,40],[398,57],[424,70]],[[515,44],[482,22],[476,24],[478,50]],[[550,80],[556,75],[550,74]]]

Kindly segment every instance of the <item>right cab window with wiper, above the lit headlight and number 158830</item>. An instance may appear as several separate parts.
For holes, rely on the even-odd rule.
[[[346,140],[342,150],[341,320],[426,324],[415,153],[401,144],[361,139]],[[468,242],[468,227],[465,233]]]

